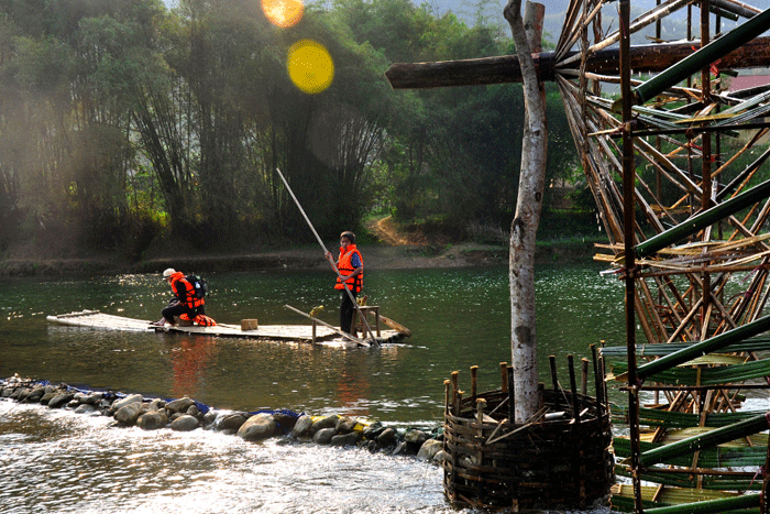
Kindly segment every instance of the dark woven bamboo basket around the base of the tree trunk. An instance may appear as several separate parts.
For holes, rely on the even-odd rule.
[[[606,404],[541,389],[541,415],[517,426],[501,408],[507,391],[460,393],[444,411],[444,493],[454,506],[519,512],[608,503],[615,473]]]

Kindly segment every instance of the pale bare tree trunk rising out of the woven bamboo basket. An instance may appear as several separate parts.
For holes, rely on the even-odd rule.
[[[528,14],[531,13],[532,17],[534,6],[527,3]],[[515,416],[516,423],[526,423],[539,406],[535,330],[535,242],[546,185],[548,129],[546,90],[532,62],[532,39],[525,30],[521,0],[509,0],[504,14],[510,24],[521,66],[526,109],[516,216],[510,223],[509,256]],[[535,41],[539,42],[539,39],[538,34]]]

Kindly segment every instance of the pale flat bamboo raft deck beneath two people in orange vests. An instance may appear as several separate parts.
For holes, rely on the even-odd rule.
[[[148,320],[114,316],[98,310],[81,310],[78,313],[47,316],[46,319],[58,325],[102,330],[182,332],[264,341],[314,342],[316,345],[340,348],[355,348],[358,346],[355,342],[340,337],[333,329],[321,325],[316,325],[314,338],[312,325],[260,325],[258,328],[252,330],[243,330],[238,325],[228,324],[219,324],[215,327],[201,327],[198,325],[157,327],[152,325],[152,321]],[[377,345],[384,345],[397,342],[402,339],[404,339],[404,335],[396,330],[382,330],[381,336],[375,338],[375,342]]]

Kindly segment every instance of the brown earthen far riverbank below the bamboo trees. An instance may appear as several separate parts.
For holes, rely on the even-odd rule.
[[[538,263],[590,262],[596,253],[593,240],[539,243]],[[463,242],[459,244],[361,244],[366,266],[373,270],[462,267],[501,265],[508,262],[503,245]],[[262,270],[326,270],[329,264],[318,247],[282,248],[243,253],[157,254],[131,262],[117,253],[88,258],[43,258],[10,252],[0,261],[0,276],[58,276],[118,273],[155,273],[174,266],[195,273]]]

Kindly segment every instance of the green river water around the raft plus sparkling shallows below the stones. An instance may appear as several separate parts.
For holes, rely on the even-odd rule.
[[[566,379],[566,354],[622,345],[623,287],[602,267],[537,273],[541,380],[548,356]],[[185,270],[195,272],[195,270]],[[217,321],[337,325],[329,273],[205,276]],[[193,397],[218,411],[287,408],[344,414],[399,427],[441,423],[443,380],[479,365],[480,391],[499,387],[510,361],[507,267],[367,270],[370,305],[413,331],[403,343],[339,350],[310,345],[135,333],[54,326],[82,309],[154,320],[169,292],[157,275],[0,280],[0,376],[14,373],[145,396]],[[111,419],[0,402],[0,512],[455,512],[441,470],[414,458],[289,442],[261,444],[208,430],[143,431]]]

